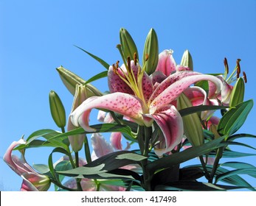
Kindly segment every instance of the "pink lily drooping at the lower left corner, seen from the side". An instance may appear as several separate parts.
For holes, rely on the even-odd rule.
[[[15,146],[26,143],[23,138],[11,143],[7,152],[4,154],[4,161],[16,174],[23,178],[21,191],[47,191],[50,186],[49,177],[38,174],[25,160],[21,152],[21,158],[12,155]]]

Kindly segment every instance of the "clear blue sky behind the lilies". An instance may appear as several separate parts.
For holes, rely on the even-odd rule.
[[[255,99],[256,1],[3,1],[0,0],[0,157],[21,135],[38,129],[58,129],[49,112],[49,91],[55,90],[67,113],[72,95],[58,77],[60,65],[89,79],[104,71],[99,63],[75,48],[90,51],[112,64],[119,30],[128,29],[142,55],[149,29],[156,30],[159,51],[173,49],[177,63],[185,49],[194,70],[224,71],[238,58],[246,71],[245,99]],[[141,56],[140,56],[141,57]],[[108,90],[105,80],[94,82]],[[240,132],[256,134],[256,109]],[[256,146],[255,141],[247,143]],[[46,163],[47,152],[28,151],[30,163]],[[252,151],[253,152],[253,151]],[[255,157],[245,159],[255,165]],[[18,191],[21,178],[0,159],[0,189]]]

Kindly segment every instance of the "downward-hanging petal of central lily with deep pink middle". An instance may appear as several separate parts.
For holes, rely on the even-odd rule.
[[[159,139],[160,144],[154,149],[158,156],[162,156],[162,154],[173,150],[181,142],[184,133],[183,121],[173,105],[162,107],[156,112],[153,115],[146,116],[153,118],[163,132],[164,138]]]

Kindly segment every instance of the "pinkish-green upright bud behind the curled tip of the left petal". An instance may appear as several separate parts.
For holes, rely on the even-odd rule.
[[[76,85],[75,97],[72,104],[72,111],[74,111],[80,104],[83,103],[88,98],[87,89],[85,85]],[[71,111],[71,112],[72,112]],[[72,124],[72,121],[69,116],[68,122],[68,131],[76,129],[75,125]],[[70,135],[69,142],[74,152],[80,151],[83,147],[83,141],[85,140],[85,135]]]

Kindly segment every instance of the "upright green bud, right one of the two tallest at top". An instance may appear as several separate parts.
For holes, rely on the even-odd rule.
[[[148,36],[145,40],[145,46],[143,51],[143,68],[151,75],[156,71],[156,66],[159,58],[159,48],[156,32],[154,29],[151,29],[148,32]]]

